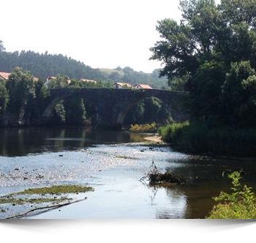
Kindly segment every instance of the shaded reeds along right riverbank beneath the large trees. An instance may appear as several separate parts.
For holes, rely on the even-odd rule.
[[[186,153],[256,156],[256,128],[211,128],[205,123],[172,123],[158,130],[165,142]]]

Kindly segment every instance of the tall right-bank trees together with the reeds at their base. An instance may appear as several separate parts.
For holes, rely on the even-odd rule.
[[[152,59],[189,91],[190,123],[159,133],[189,153],[255,156],[256,0],[181,0],[180,23],[158,22]]]

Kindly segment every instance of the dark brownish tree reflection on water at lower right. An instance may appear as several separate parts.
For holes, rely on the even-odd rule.
[[[227,174],[231,171],[243,171],[244,184],[256,188],[255,161],[187,156],[182,160],[169,162],[180,166],[166,166],[166,170],[173,171],[187,180],[187,185],[176,187],[177,196],[183,195],[186,201],[183,216],[185,218],[205,218],[208,215],[215,204],[213,197],[218,196],[220,191],[230,190]],[[165,190],[167,195],[170,195],[169,199],[173,200],[173,189]],[[169,218],[168,212],[159,217]]]

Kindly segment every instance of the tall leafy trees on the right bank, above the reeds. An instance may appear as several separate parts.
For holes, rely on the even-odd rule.
[[[256,122],[256,0],[181,0],[182,20],[158,23],[152,59],[170,87],[190,92],[193,119],[217,126]]]

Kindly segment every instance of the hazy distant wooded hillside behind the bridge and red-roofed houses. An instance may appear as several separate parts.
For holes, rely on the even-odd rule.
[[[46,79],[58,74],[79,80],[86,78],[102,82],[129,82],[132,84],[145,83],[153,88],[167,88],[167,79],[159,78],[159,70],[151,74],[136,72],[125,67],[116,69],[92,69],[80,61],[75,61],[64,55],[52,55],[49,53],[34,53],[33,51],[21,51],[8,53],[0,42],[0,72],[11,72],[16,66],[29,70],[35,77]],[[113,85],[112,85],[113,87]]]

